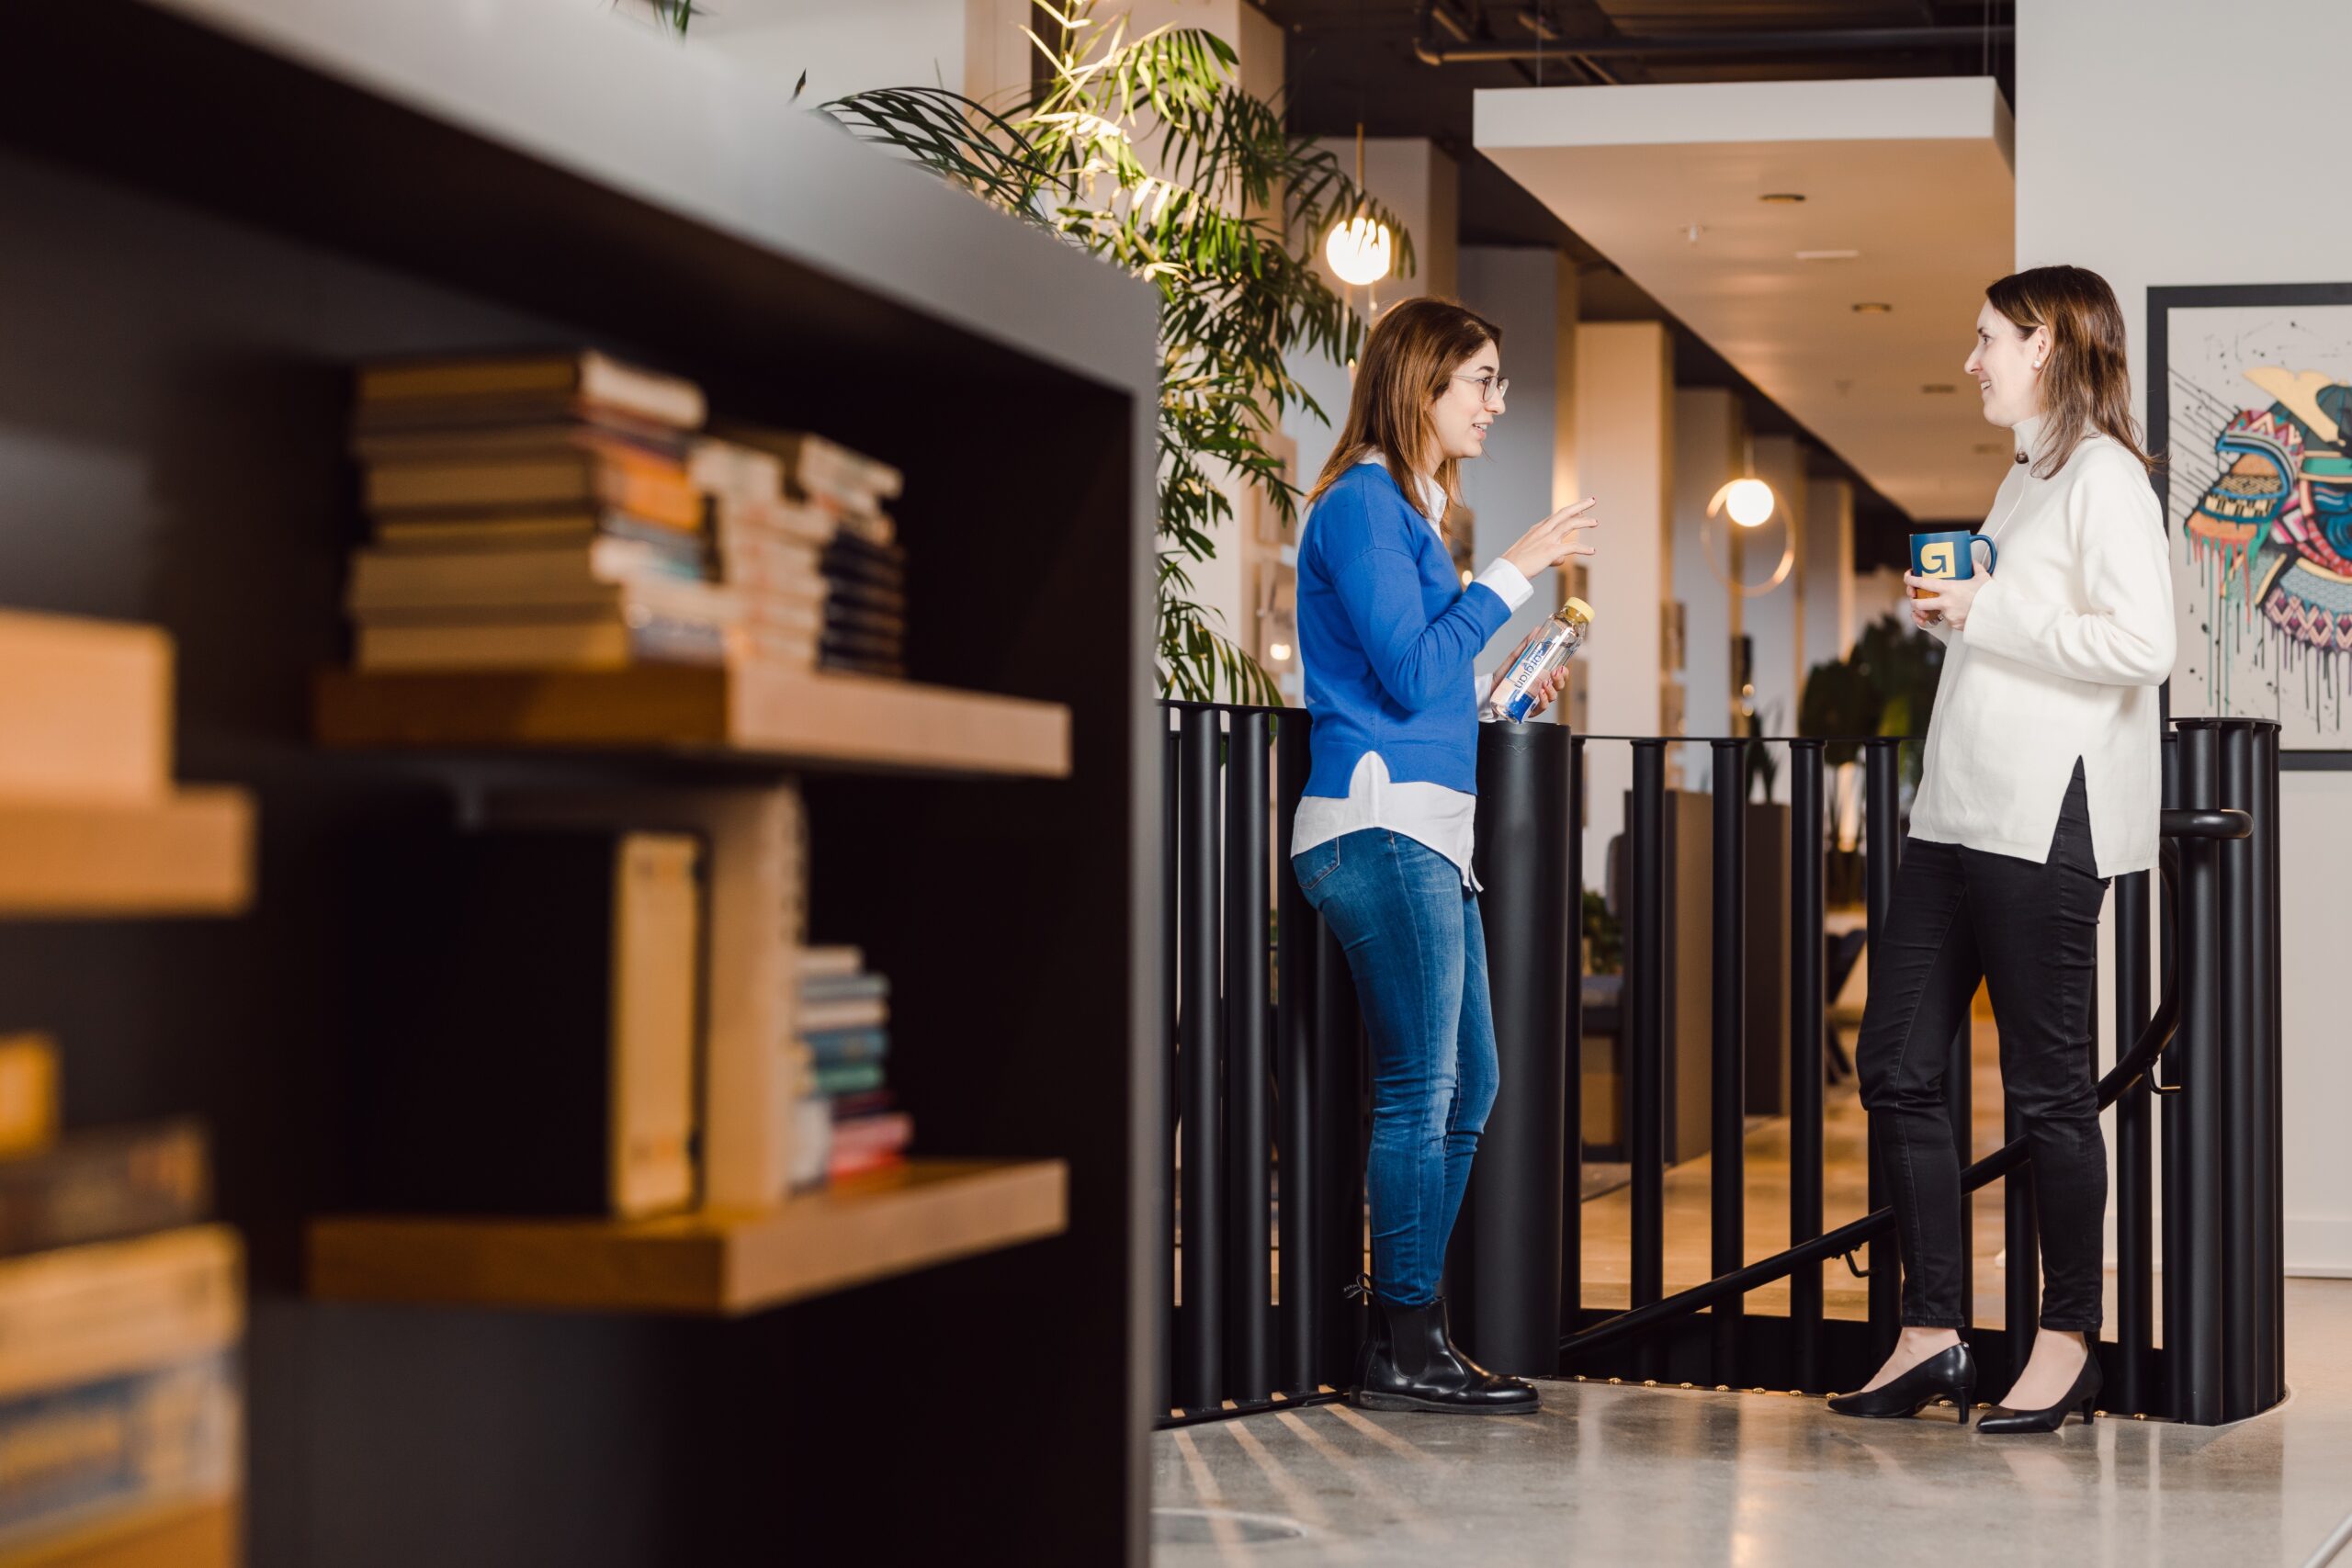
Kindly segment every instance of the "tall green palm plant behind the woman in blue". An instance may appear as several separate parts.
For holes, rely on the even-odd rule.
[[[663,0],[684,31],[694,0]],[[1160,289],[1160,628],[1162,691],[1279,703],[1258,661],[1209,625],[1192,567],[1232,522],[1228,482],[1256,489],[1282,522],[1298,491],[1268,442],[1282,416],[1324,409],[1291,376],[1298,353],[1355,360],[1364,317],[1312,268],[1317,240],[1369,216],[1414,242],[1329,148],[1291,136],[1272,103],[1242,92],[1232,45],[1200,28],[1131,38],[1091,0],[1037,5],[1051,40],[1016,101],[946,87],[891,87],[823,103],[863,141],[889,146],[1070,244]]]

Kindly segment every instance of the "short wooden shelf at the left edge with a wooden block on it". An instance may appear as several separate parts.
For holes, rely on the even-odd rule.
[[[235,914],[252,898],[254,804],[181,790],[155,804],[0,802],[0,917]]]

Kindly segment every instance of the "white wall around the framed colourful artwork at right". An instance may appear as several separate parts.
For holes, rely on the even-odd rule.
[[[2352,275],[2352,205],[2321,195],[2352,9],[2277,0],[2260,12],[2277,47],[2241,47],[2244,26],[2206,0],[2018,0],[2018,266],[2114,284],[2143,411],[2150,284]],[[2338,1048],[2352,773],[2288,773],[2281,813],[2286,1265],[2352,1274],[2352,1053]]]

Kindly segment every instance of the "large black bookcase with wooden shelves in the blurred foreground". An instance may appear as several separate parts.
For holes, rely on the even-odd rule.
[[[788,80],[602,5],[85,0],[12,21],[0,280],[42,301],[42,331],[0,350],[0,400],[49,414],[0,503],[75,510],[0,531],[0,567],[35,609],[174,632],[186,771],[254,792],[270,875],[223,926],[42,929],[0,950],[0,983],[64,1039],[115,1030],[103,1110],[195,1100],[221,1128],[268,1302],[252,1568],[717,1563],[779,1530],[811,1561],[913,1561],[950,1528],[1141,1568],[1155,294],[818,125]],[[473,684],[430,717],[320,684],[358,536],[343,367],[543,343],[901,468],[922,686],[771,705],[703,679],[659,696],[696,715],[677,729],[626,682]],[[506,698],[529,717],[499,717]],[[532,729],[550,710],[567,731]],[[769,783],[746,773],[802,773],[809,936],[894,978],[917,1150],[1058,1171],[1058,1227],[1042,1175],[833,1194],[842,1251],[741,1316],[310,1295],[308,1232],[353,1206],[353,844],[501,792]],[[816,1220],[790,1208],[703,1255],[800,1246]],[[866,1229],[903,1251],[851,1288]],[[1002,1345],[1042,1354],[974,1385],[974,1352]]]

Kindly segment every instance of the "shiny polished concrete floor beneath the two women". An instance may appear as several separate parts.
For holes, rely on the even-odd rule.
[[[1947,1410],[1548,1382],[1531,1418],[1319,1406],[1162,1432],[1155,1563],[2298,1568],[2352,1509],[2352,1281],[2286,1300],[2293,1396],[2237,1427],[1987,1439]]]

